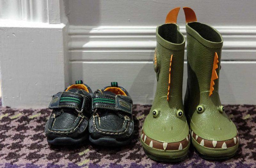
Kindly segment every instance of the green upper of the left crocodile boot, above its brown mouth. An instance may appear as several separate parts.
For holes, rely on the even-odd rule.
[[[171,23],[157,27],[156,40],[154,58],[157,74],[156,94],[152,108],[144,121],[143,131],[147,137],[158,142],[179,142],[186,139],[189,134],[185,115],[177,116],[179,109],[184,110],[182,81],[185,38],[180,33],[179,26]],[[170,92],[167,101],[171,56]],[[158,115],[154,116],[154,110],[158,111]]]

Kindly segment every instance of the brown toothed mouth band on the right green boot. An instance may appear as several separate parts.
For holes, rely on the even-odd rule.
[[[205,140],[198,135],[196,135],[193,131],[191,131],[191,136],[196,140],[197,143],[199,143],[201,146],[204,146],[206,148],[219,148],[219,149],[226,149],[236,146],[238,141],[238,134],[236,137],[229,139],[229,140],[222,140],[222,141],[215,141],[215,140]]]

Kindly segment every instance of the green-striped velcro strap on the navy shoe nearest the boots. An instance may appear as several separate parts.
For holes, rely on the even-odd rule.
[[[132,102],[124,100],[122,95],[94,94],[92,97],[92,109],[106,108],[112,110],[121,110],[132,114]]]

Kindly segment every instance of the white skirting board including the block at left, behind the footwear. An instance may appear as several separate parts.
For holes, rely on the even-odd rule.
[[[256,27],[215,28],[224,38],[222,103],[256,104]],[[130,92],[134,104],[152,103],[156,26],[71,25],[67,29],[65,24],[0,22],[4,106],[46,108],[53,94],[80,79],[92,90],[116,81]],[[186,35],[184,26],[180,30]],[[183,94],[186,64],[184,67]]]

